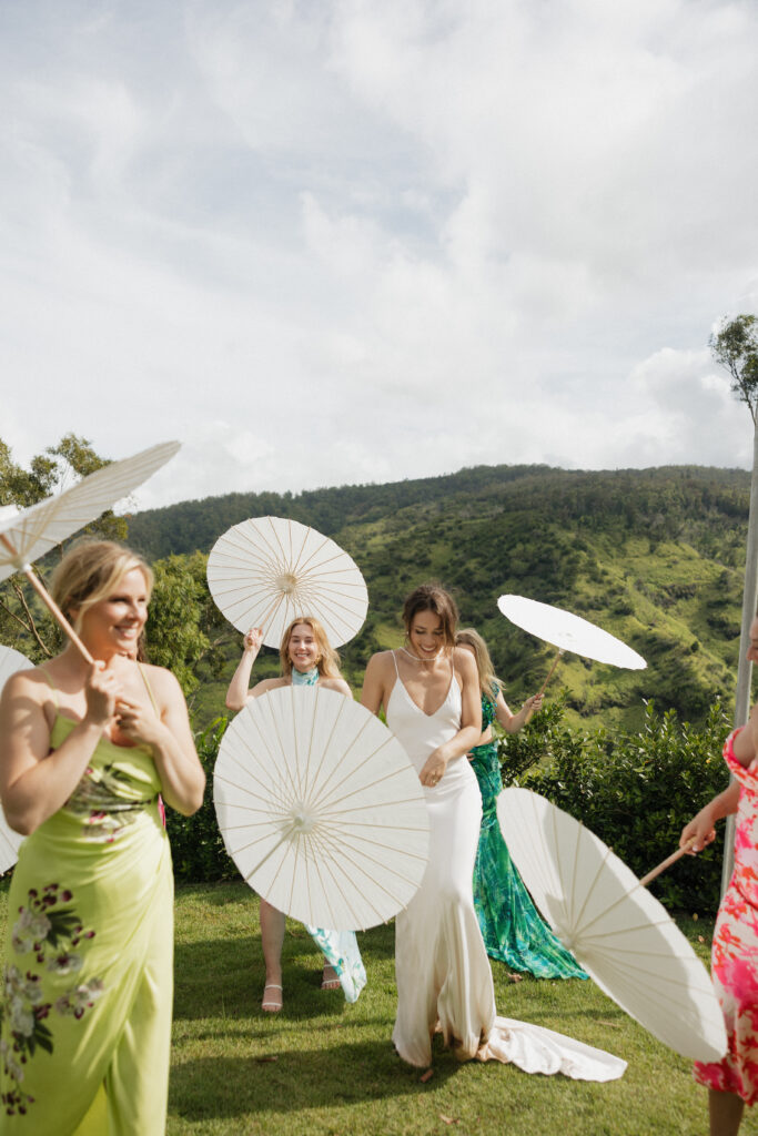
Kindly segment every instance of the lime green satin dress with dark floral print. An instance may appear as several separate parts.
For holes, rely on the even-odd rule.
[[[51,746],[76,722],[58,713]],[[147,747],[102,737],[78,786],[22,842],[0,992],[6,1136],[160,1136],[174,882]]]

